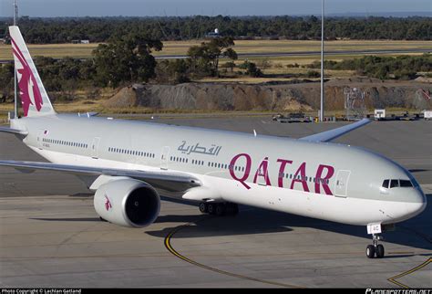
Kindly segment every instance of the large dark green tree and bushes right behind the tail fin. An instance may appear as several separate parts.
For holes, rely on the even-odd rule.
[[[99,44],[92,58],[34,58],[46,90],[54,100],[73,100],[77,89],[117,88],[133,82],[156,78],[153,50],[163,44],[145,34],[113,36]],[[11,97],[14,87],[14,65],[0,65],[0,97]]]

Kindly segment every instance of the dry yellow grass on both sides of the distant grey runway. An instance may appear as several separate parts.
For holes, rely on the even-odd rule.
[[[193,41],[169,41],[164,42],[163,50],[153,52],[154,56],[167,56],[167,55],[186,55],[188,49],[194,45],[200,45],[203,40]],[[290,53],[290,52],[311,52],[319,51],[321,43],[319,41],[293,41],[293,40],[236,40],[234,49],[239,54],[245,53]],[[90,58],[92,51],[98,47],[98,44],[54,44],[54,45],[28,45],[32,56],[46,56],[51,58]],[[385,50],[385,49],[431,49],[432,41],[367,41],[367,40],[338,40],[327,41],[325,49],[330,51],[338,50]],[[418,55],[421,53],[413,53],[409,55]],[[400,56],[402,54],[382,54],[381,56]],[[341,61],[347,58],[359,58],[365,54],[347,54],[338,56],[327,56],[326,60]],[[253,57],[247,58],[248,60],[257,63],[260,67],[260,62],[263,59],[267,60],[270,64],[269,68],[262,69],[265,75],[273,75],[273,77],[265,79],[254,79],[248,77],[241,77],[238,79],[203,79],[201,81],[219,81],[219,82],[244,82],[244,83],[261,83],[270,80],[288,80],[290,78],[283,77],[283,75],[290,74],[305,74],[308,68],[287,68],[288,65],[298,64],[300,66],[313,63],[319,60],[320,56],[292,56],[292,57],[272,57],[262,58]],[[0,60],[12,59],[11,47],[9,45],[0,45]],[[241,64],[246,58],[239,58],[235,63]],[[226,62],[226,59],[221,59],[221,66]],[[238,70],[238,69],[237,69]],[[326,71],[328,78],[345,78],[353,75],[349,70]],[[229,75],[228,75],[229,76]]]

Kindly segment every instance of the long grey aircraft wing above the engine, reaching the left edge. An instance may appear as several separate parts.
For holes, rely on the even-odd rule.
[[[17,161],[0,161],[0,166],[13,167],[16,170],[23,171],[55,171],[63,173],[72,173],[76,175],[99,176],[101,174],[111,176],[127,176],[133,179],[144,181],[155,188],[163,189],[170,192],[183,192],[190,188],[201,186],[200,180],[190,176],[188,173],[174,173],[168,171],[140,171],[140,170],[122,170],[113,168],[87,167],[79,165],[67,165],[57,163],[36,163],[36,162],[17,162]]]

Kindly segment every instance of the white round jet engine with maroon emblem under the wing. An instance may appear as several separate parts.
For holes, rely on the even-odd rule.
[[[160,198],[149,184],[134,179],[119,179],[102,184],[93,201],[103,219],[119,226],[144,227],[159,215]]]

